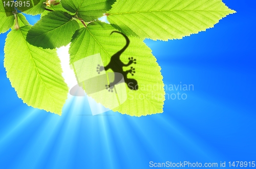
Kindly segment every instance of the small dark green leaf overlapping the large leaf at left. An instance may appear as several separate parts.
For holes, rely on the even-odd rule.
[[[68,45],[73,34],[79,29],[77,21],[63,11],[50,12],[32,27],[27,41],[38,47],[54,49]]]

